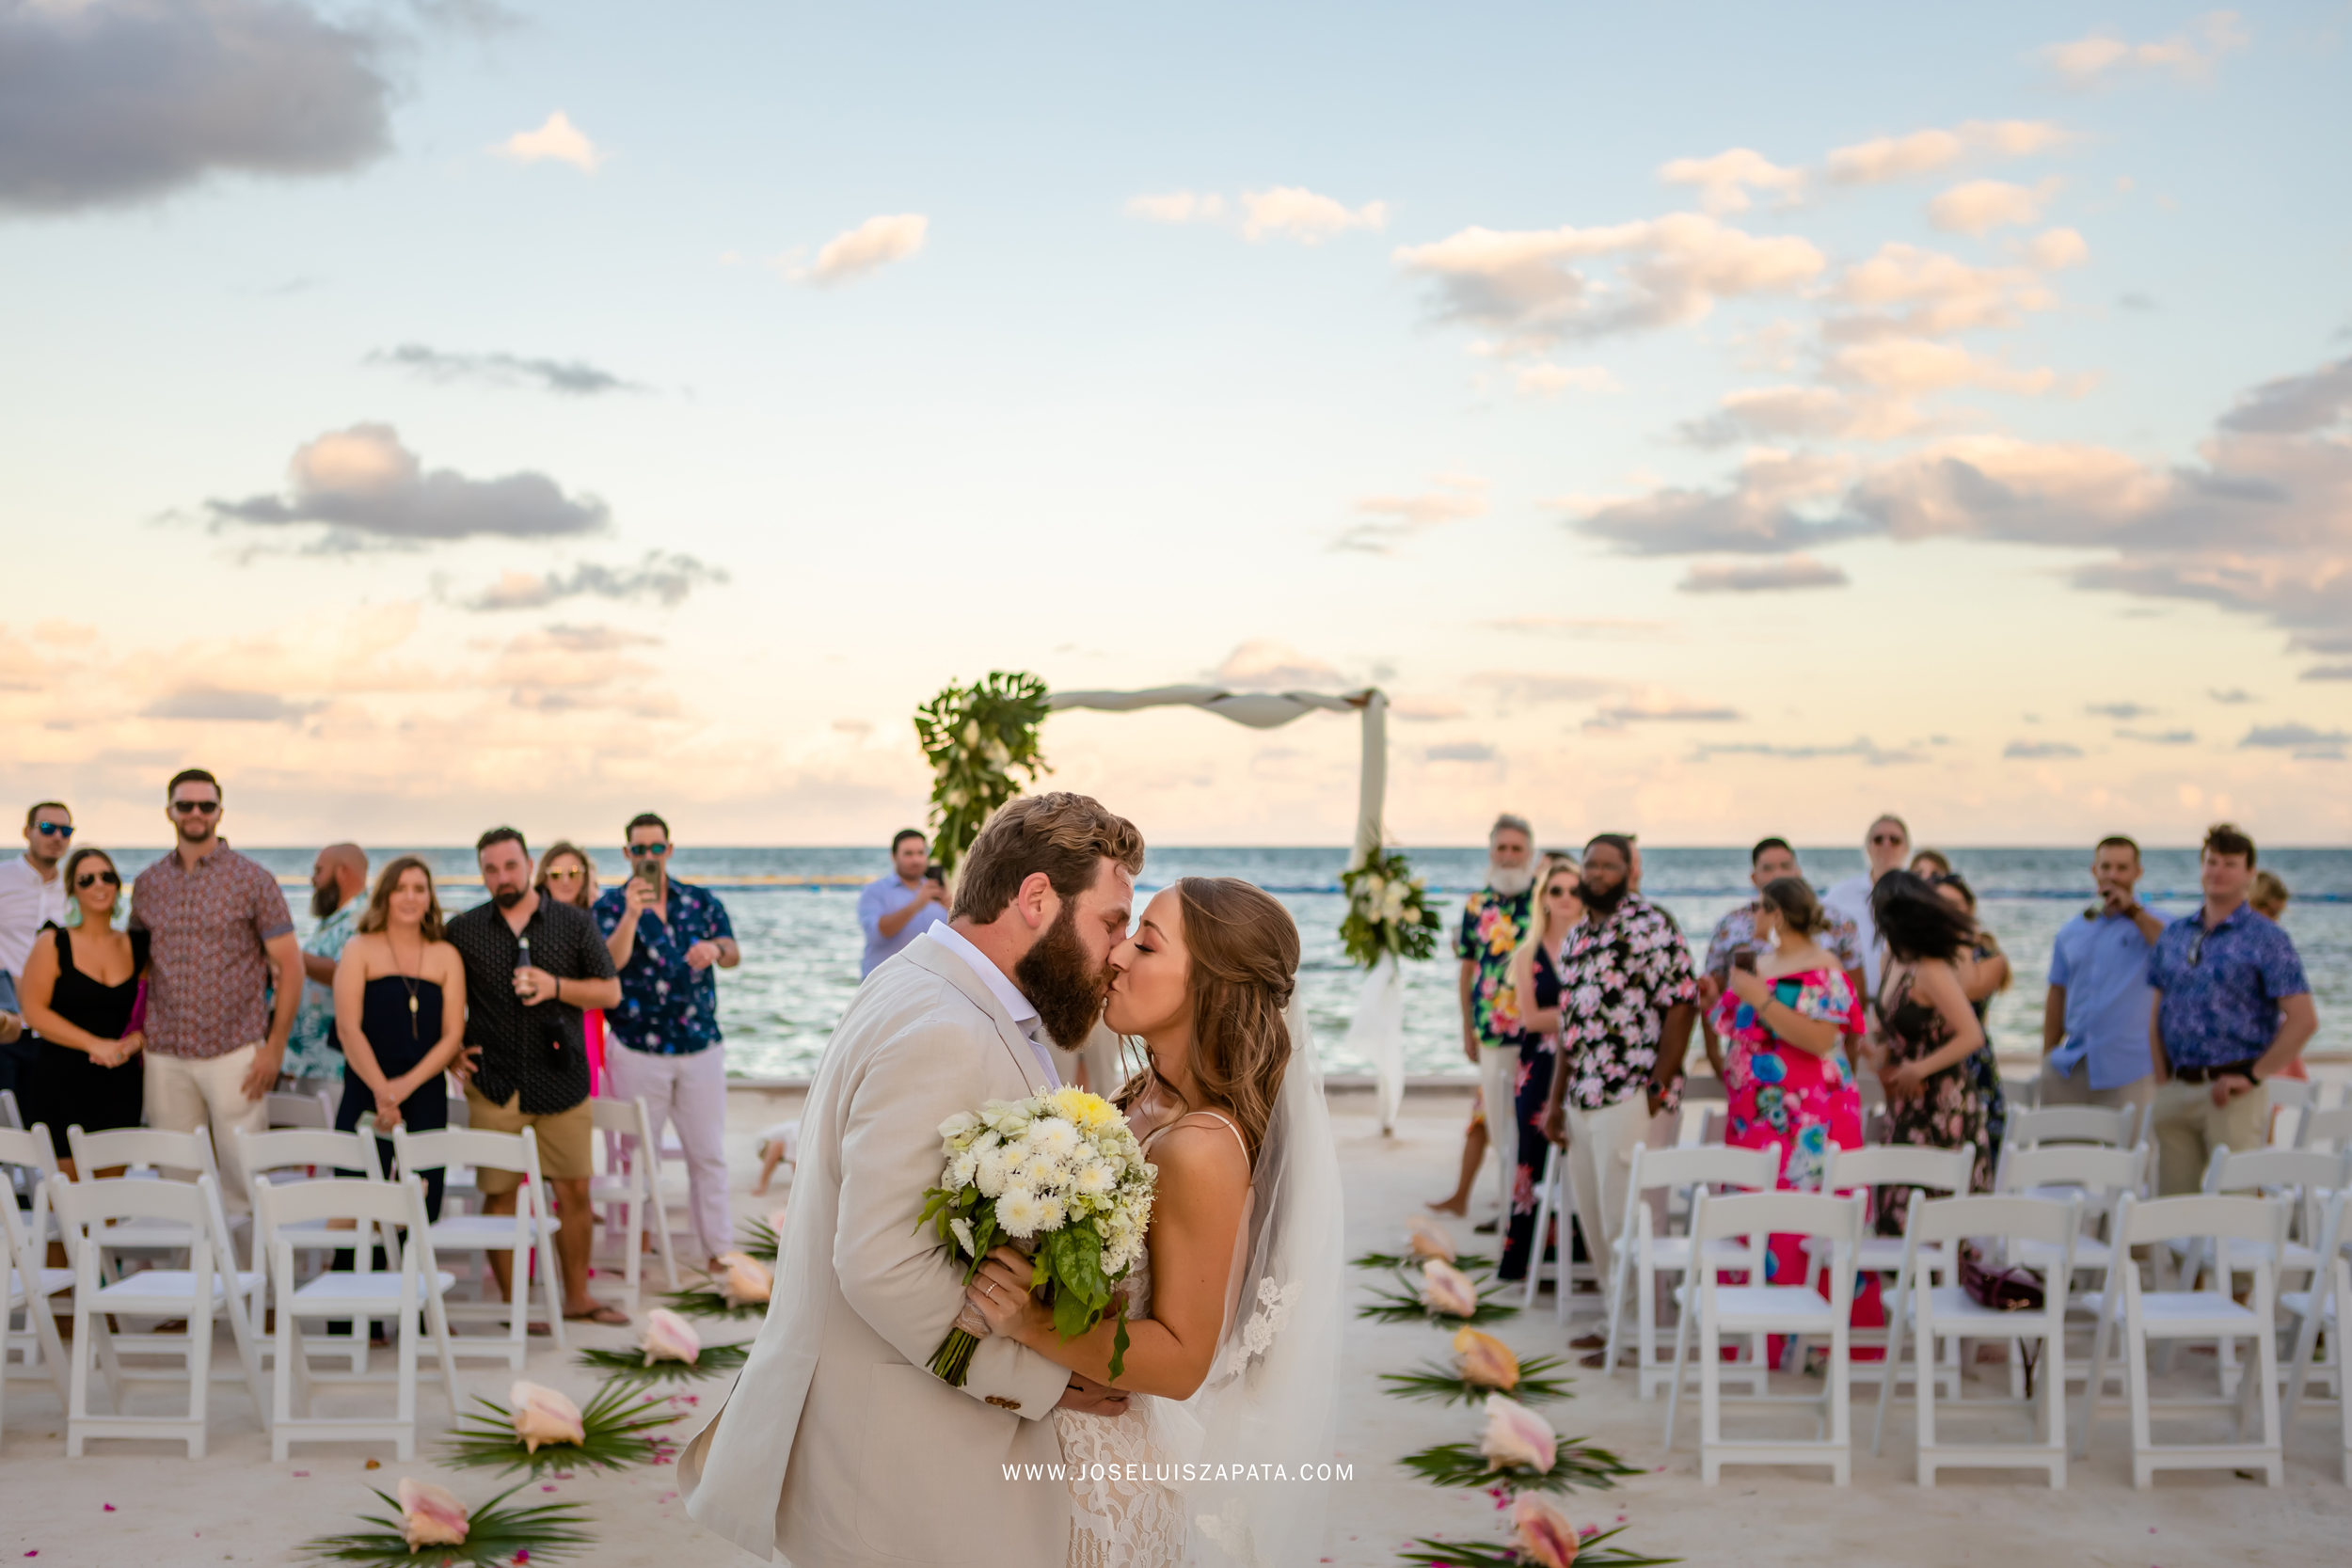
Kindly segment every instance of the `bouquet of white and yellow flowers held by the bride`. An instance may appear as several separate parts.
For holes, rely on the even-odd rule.
[[[1030,1288],[1044,1288],[1063,1340],[1117,1312],[1110,1375],[1124,1371],[1127,1302],[1115,1286],[1143,1258],[1152,1222],[1152,1182],[1143,1145],[1120,1110],[1084,1088],[1056,1088],[1028,1100],[990,1100],[938,1124],[946,1168],[927,1190],[924,1222],[964,1265],[964,1284],[1000,1241],[1030,1255]],[[950,1328],[931,1371],[962,1387],[978,1340]]]

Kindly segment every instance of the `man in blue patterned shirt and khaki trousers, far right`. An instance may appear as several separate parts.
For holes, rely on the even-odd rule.
[[[2246,903],[2253,839],[2216,823],[2199,863],[2204,907],[2157,938],[2147,983],[2157,990],[2147,1044],[2157,1065],[2157,1192],[2204,1187],[2216,1147],[2270,1143],[2270,1093],[2319,1032],[2303,959],[2284,929]]]

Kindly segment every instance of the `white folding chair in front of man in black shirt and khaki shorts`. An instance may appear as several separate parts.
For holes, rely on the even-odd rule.
[[[461,1321],[506,1324],[506,1340],[482,1340],[459,1335],[452,1340],[461,1356],[496,1356],[522,1371],[529,1352],[532,1321],[532,1253],[539,1255],[539,1291],[548,1312],[548,1333],[555,1347],[564,1347],[564,1307],[555,1260],[555,1220],[543,1211],[548,1185],[539,1178],[539,1135],[532,1128],[520,1133],[430,1131],[412,1133],[407,1126],[393,1128],[393,1157],[400,1175],[423,1175],[449,1166],[473,1166],[477,1171],[513,1171],[522,1178],[515,1192],[515,1213],[468,1213],[442,1215],[430,1227],[435,1253],[480,1253],[482,1300],[449,1302],[447,1312]],[[510,1300],[494,1300],[489,1253],[506,1253]]]

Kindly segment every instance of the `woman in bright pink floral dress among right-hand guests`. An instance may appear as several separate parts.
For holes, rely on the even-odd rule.
[[[1748,954],[1740,954],[1712,1018],[1724,1039],[1724,1088],[1731,1093],[1724,1143],[1743,1150],[1778,1143],[1780,1187],[1820,1192],[1830,1147],[1863,1143],[1863,1095],[1846,1065],[1846,1037],[1865,1027],[1863,1004],[1839,961],[1813,940],[1828,931],[1830,917],[1804,879],[1764,884],[1755,919],[1757,940],[1769,945],[1755,954],[1755,969],[1745,969]],[[1764,1281],[1797,1284],[1804,1276],[1802,1241],[1771,1237]],[[1865,1274],[1853,1295],[1853,1326],[1877,1328],[1882,1321],[1879,1279]]]

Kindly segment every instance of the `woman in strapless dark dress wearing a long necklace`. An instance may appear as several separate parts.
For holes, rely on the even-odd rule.
[[[466,969],[442,940],[433,870],[400,856],[376,877],[376,891],[334,966],[334,1032],[343,1044],[339,1131],[369,1121],[376,1157],[393,1166],[381,1133],[449,1126],[442,1079],[466,1044]],[[442,1173],[426,1173],[426,1213],[440,1218]]]

